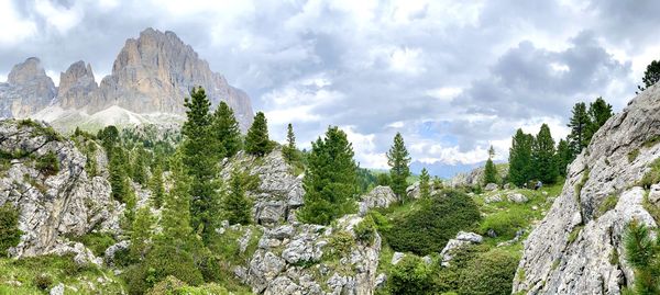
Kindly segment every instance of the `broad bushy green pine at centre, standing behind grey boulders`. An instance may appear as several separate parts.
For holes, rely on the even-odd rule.
[[[298,219],[327,225],[354,211],[358,166],[353,156],[346,134],[338,127],[328,127],[323,139],[311,143],[302,179],[305,206],[298,212]]]

